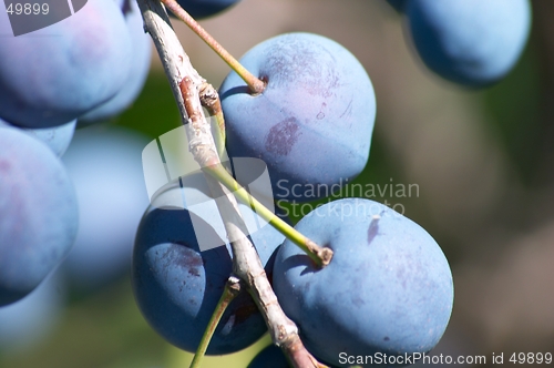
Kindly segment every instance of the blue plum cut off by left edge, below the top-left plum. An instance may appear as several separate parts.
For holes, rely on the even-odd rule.
[[[0,306],[28,295],[60,264],[78,218],[73,185],[52,151],[0,127]]]

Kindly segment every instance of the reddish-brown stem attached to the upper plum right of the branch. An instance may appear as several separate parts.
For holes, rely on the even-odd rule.
[[[253,94],[259,94],[266,89],[266,83],[250,73],[238,60],[217,42],[198,22],[191,17],[175,0],[161,0],[178,19],[196,33],[206,44],[215,51],[250,88]]]

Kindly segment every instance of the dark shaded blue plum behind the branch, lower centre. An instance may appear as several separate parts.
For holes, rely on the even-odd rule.
[[[192,174],[179,182],[158,192],[144,214],[136,234],[132,279],[137,305],[150,325],[171,344],[195,351],[232,273],[233,260],[204,176]],[[183,208],[182,197],[191,211]],[[269,273],[271,256],[285,237],[269,225],[256,231],[260,218],[256,219],[248,207],[239,207]],[[225,311],[207,354],[238,351],[266,330],[254,300],[243,293]]]

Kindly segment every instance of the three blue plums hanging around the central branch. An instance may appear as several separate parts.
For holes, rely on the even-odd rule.
[[[260,159],[273,200],[319,198],[363,170],[375,91],[348,50],[321,35],[287,33],[254,47],[240,63],[266,88],[253,94],[235,72],[219,88],[227,154],[230,161]],[[198,204],[212,209],[196,209]],[[263,223],[249,207],[240,212]],[[133,290],[141,311],[166,340],[193,352],[233,269],[222,227],[207,184],[195,173],[154,195],[135,238]],[[447,258],[423,228],[361,198],[329,202],[296,228],[335,252],[327,267],[318,268],[267,224],[249,237],[281,307],[320,361],[341,366],[340,352],[394,356],[427,352],[438,344],[452,310],[453,285]],[[206,239],[219,246],[203,251]],[[238,351],[265,331],[245,293],[225,311],[207,354]]]

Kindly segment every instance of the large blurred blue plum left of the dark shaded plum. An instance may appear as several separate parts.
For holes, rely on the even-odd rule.
[[[122,127],[75,132],[62,159],[79,203],[76,239],[61,266],[73,290],[93,292],[130,272],[136,227],[148,206],[141,162],[147,143]]]

